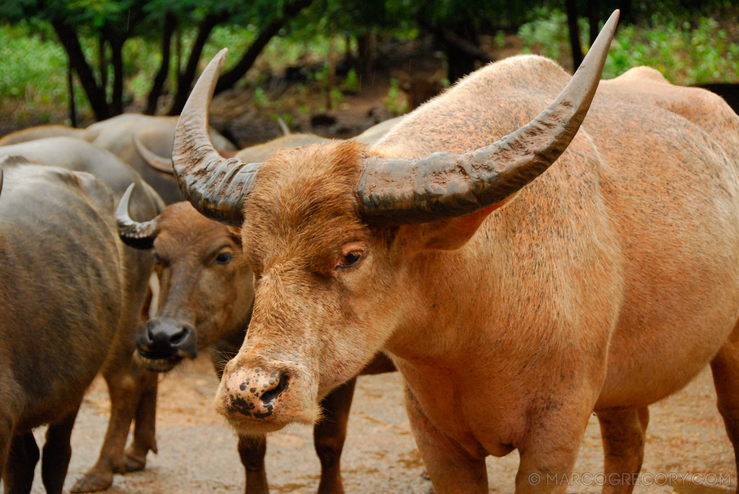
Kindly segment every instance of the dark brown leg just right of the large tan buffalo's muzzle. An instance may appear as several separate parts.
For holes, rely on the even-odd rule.
[[[353,380],[345,382],[323,399],[324,416],[313,429],[313,442],[321,460],[319,494],[344,494],[341,484],[341,450],[347,438],[347,422],[354,397]]]

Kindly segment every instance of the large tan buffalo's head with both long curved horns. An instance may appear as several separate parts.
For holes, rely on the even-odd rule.
[[[401,320],[428,320],[431,309],[414,300],[419,288],[406,278],[429,268],[413,259],[463,246],[565,151],[595,95],[617,18],[530,123],[465,154],[418,159],[372,155],[353,142],[282,149],[262,163],[220,157],[207,115],[225,50],[211,61],[180,117],[173,161],[197,210],[242,227],[254,272],[248,335],[217,394],[218,411],[240,433],[313,423],[319,399],[399,337]]]

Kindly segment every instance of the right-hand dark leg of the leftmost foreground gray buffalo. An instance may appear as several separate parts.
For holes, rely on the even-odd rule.
[[[72,445],[69,439],[75,426],[78,408],[64,417],[61,422],[49,426],[44,443],[44,459],[41,460],[41,479],[47,494],[61,494],[64,478],[67,478]]]

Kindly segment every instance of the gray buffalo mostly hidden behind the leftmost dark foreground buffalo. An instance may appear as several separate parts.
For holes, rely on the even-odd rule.
[[[114,154],[84,140],[72,137],[50,137],[26,143],[0,147],[0,155],[19,155],[42,165],[58,166],[73,171],[85,171],[101,179],[112,189],[118,201],[126,188],[133,182],[138,191],[132,197],[132,216],[146,221],[157,216],[164,208],[162,199],[143,182],[140,175]],[[147,371],[132,361],[134,337],[137,324],[143,317],[142,311],[149,293],[149,276],[154,267],[151,255],[124,245],[120,246],[126,261],[126,296],[138,306],[130,318],[131,327],[126,337],[115,342],[111,351],[110,365],[103,368],[103,377],[108,383],[112,414],[101,456],[95,467],[81,478],[74,492],[87,492],[109,487],[114,472],[140,470],[146,464],[146,453],[156,451],[154,440],[154,414],[157,392],[156,374]],[[136,420],[134,442],[124,453],[129,427]]]

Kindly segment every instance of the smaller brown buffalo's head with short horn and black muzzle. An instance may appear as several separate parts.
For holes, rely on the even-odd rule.
[[[120,201],[120,237],[151,248],[160,281],[157,315],[137,341],[137,360],[166,372],[236,329],[245,328],[254,300],[253,275],[242,262],[240,237],[198,213],[189,202],[167,206],[151,222],[129,218],[130,192]]]

